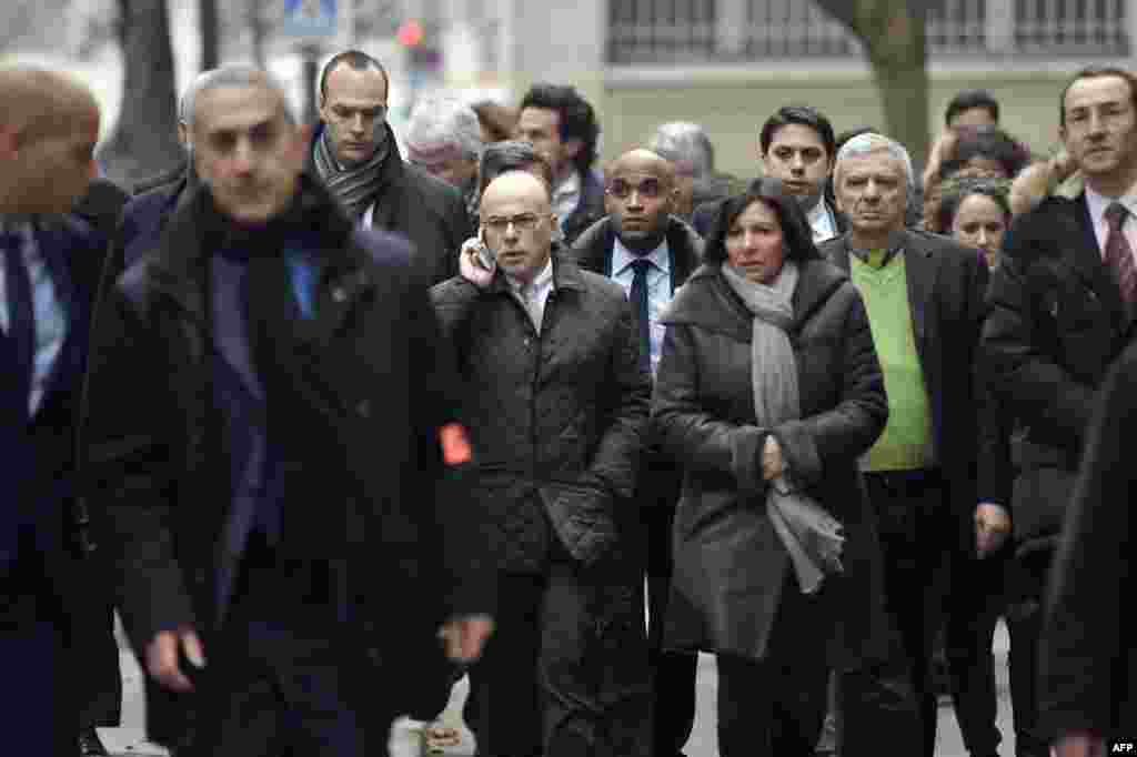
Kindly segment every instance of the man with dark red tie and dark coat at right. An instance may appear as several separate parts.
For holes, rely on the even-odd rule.
[[[1137,78],[1121,68],[1082,69],[1063,90],[1059,117],[1059,135],[1085,190],[1072,199],[1047,197],[1015,221],[984,327],[993,389],[1026,430],[1013,526],[1036,552],[1039,581],[1065,518],[1098,386],[1132,336]],[[1039,587],[1039,597],[1044,591]],[[1051,652],[1041,658],[1039,723],[1061,757],[1081,757],[1098,754],[1096,740],[1119,724],[1086,716],[1080,685],[1084,671],[1095,668],[1076,667],[1085,664],[1077,656],[1057,656],[1071,634],[1081,633],[1080,624],[1095,618],[1065,619],[1053,626]]]

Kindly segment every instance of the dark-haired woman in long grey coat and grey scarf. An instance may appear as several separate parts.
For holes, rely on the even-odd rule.
[[[805,757],[830,667],[882,637],[857,457],[888,416],[864,305],[798,203],[723,202],[675,296],[654,431],[684,468],[665,643],[719,658],[719,751]]]

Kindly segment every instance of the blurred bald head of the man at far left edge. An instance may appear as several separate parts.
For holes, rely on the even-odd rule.
[[[0,67],[0,214],[68,213],[96,173],[99,106],[66,74]]]

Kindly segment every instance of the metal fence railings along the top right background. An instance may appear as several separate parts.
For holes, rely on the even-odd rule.
[[[933,57],[1129,55],[1129,0],[932,0]],[[745,63],[860,55],[811,0],[609,0],[608,63]]]

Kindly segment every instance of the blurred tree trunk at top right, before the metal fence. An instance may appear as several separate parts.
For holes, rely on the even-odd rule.
[[[908,149],[913,163],[928,159],[928,35],[930,2],[937,0],[818,0],[864,45],[885,107],[888,135]]]

